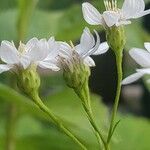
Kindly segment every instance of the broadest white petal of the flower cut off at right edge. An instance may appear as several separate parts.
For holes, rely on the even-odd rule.
[[[129,51],[130,56],[142,67],[150,67],[150,53],[139,48]]]

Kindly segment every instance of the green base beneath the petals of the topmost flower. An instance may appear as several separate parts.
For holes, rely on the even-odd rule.
[[[110,48],[117,54],[118,51],[122,53],[125,43],[126,37],[123,26],[113,26],[111,28],[106,29],[106,38]]]

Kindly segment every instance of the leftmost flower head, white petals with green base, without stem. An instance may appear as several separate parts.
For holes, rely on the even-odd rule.
[[[15,71],[19,89],[34,100],[40,87],[37,67],[58,71],[58,52],[59,44],[53,37],[48,41],[33,38],[27,44],[20,42],[18,50],[13,43],[2,41],[0,58],[4,64],[0,64],[0,73]]]

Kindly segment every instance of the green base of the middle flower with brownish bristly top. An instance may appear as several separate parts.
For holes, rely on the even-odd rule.
[[[74,90],[81,89],[90,76],[89,67],[77,55],[74,53],[74,57],[71,60],[62,62],[66,84]]]

